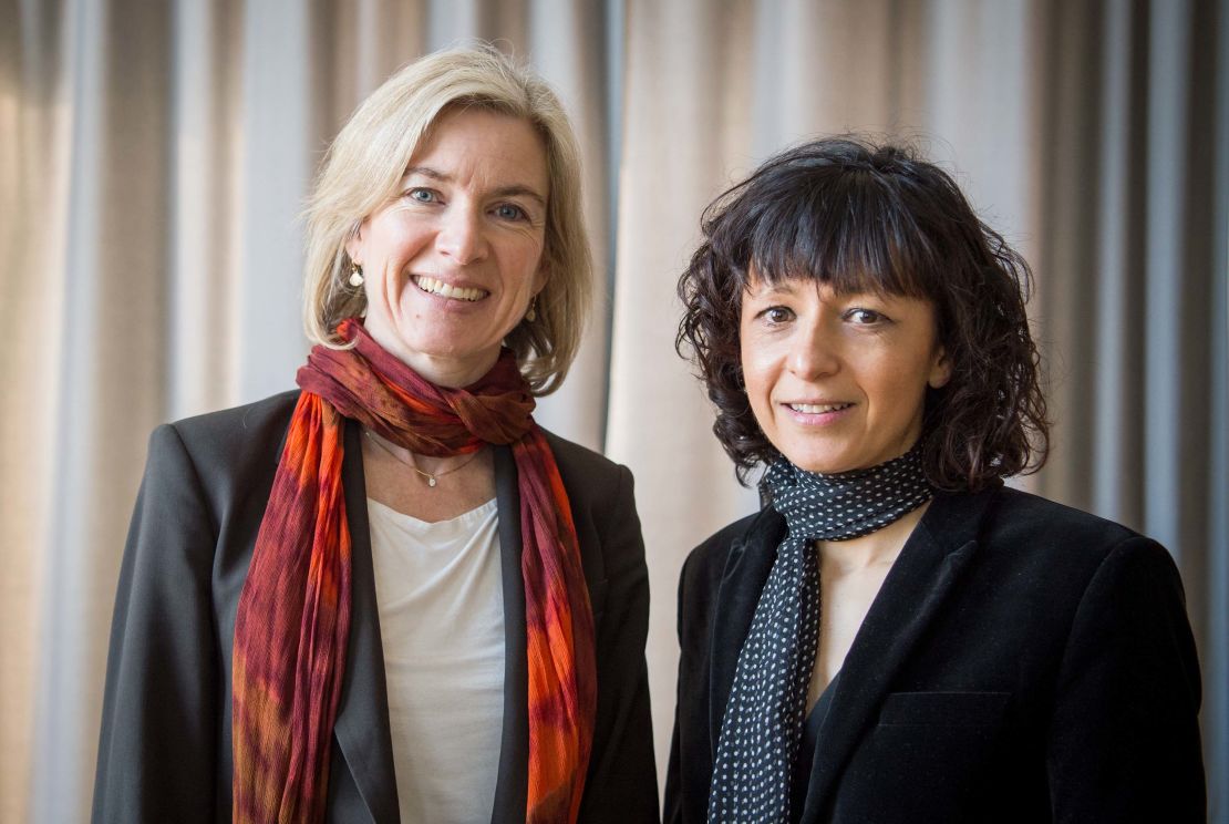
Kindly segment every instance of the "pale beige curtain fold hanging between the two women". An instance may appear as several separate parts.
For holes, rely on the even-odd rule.
[[[630,0],[627,10],[606,448],[637,478],[662,772],[673,724],[678,571],[692,546],[756,502],[734,482],[709,403],[673,352],[675,284],[696,247],[701,210],[732,182],[732,170],[752,162],[755,27],[746,2]]]

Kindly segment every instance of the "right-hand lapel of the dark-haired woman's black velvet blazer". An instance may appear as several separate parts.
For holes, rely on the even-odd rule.
[[[864,731],[875,722],[892,678],[976,549],[989,496],[939,496],[909,536],[875,596],[833,687],[801,820],[817,822]]]

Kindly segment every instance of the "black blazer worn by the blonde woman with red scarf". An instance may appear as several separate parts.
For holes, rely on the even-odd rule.
[[[235,611],[297,395],[162,426],[150,438],[111,630],[95,822],[231,820]],[[326,819],[382,824],[398,820],[398,806],[360,433],[347,422],[353,612]],[[547,437],[597,635],[597,717],[580,820],[655,822],[648,571],[632,473]],[[528,786],[525,593],[516,467],[508,448],[494,460],[506,663],[492,822],[511,823],[525,820]]]

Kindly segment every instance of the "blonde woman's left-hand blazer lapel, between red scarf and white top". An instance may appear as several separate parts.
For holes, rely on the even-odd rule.
[[[363,476],[361,428],[345,422],[342,486],[350,526],[350,638],[345,676],[333,733],[354,783],[374,822],[396,822],[397,778],[388,728],[388,689],[376,608],[376,582],[367,528],[367,497]]]

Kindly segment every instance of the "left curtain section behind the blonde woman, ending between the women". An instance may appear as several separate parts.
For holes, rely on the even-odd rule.
[[[530,0],[0,5],[0,820],[87,818],[145,439],[293,385],[297,215],[364,95],[467,38],[532,58],[576,124],[608,279],[605,30]],[[594,448],[607,315],[600,294],[538,412]]]

